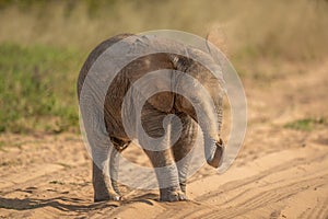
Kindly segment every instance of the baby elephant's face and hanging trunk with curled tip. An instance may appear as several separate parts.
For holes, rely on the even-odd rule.
[[[200,125],[204,138],[206,160],[211,166],[219,168],[224,151],[220,138],[224,87],[223,79],[220,79],[221,67],[204,53],[190,49],[188,54],[196,60],[202,60],[202,64],[216,73],[214,76],[204,66],[188,57],[169,56],[175,68],[187,73],[177,74],[175,78],[177,91],[181,94],[176,99],[176,106]]]

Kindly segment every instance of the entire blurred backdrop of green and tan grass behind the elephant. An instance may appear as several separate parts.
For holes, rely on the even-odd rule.
[[[0,0],[0,131],[79,131],[79,70],[113,35],[209,34],[243,77],[267,79],[256,64],[327,58],[327,12],[326,0]]]

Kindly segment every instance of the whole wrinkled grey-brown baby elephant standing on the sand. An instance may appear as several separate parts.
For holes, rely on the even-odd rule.
[[[124,45],[124,48],[116,48],[118,43]],[[117,54],[105,56],[108,48],[116,49]],[[176,53],[168,53],[169,50]],[[156,53],[145,53],[117,70],[119,60],[139,51]],[[113,65],[98,68],[103,74],[91,76],[93,66],[99,65],[97,61],[101,58],[105,62],[106,59],[112,61]],[[114,36],[101,43],[90,54],[80,71],[78,94],[93,158],[94,201],[121,198],[115,177],[119,171],[118,155],[133,139],[138,139],[155,170],[160,200],[163,201],[187,199],[186,180],[190,159],[184,158],[195,145],[198,125],[203,134],[208,164],[213,168],[221,164],[224,150],[220,138],[223,80],[218,79],[209,70],[209,66],[216,69],[216,73],[222,78],[219,65],[211,55],[200,49],[168,39],[132,34]],[[145,96],[144,91],[134,85],[151,72],[160,74],[153,74],[155,77],[151,77],[151,83],[143,84],[142,89],[150,85],[153,90],[159,89],[159,92]],[[106,89],[99,85],[110,77],[110,84],[106,84]],[[92,82],[86,84],[86,80]],[[87,89],[87,92],[84,92],[84,89]],[[102,94],[104,99],[99,97]],[[125,104],[128,107],[124,107]],[[140,114],[138,104],[142,104]],[[166,135],[166,130],[171,130],[173,135],[175,128],[165,127],[164,118],[167,115],[174,115],[180,120],[180,135],[172,146],[163,147],[168,143],[163,139],[154,143],[141,137],[138,119],[149,138],[161,139]],[[86,117],[92,117],[92,120]],[[99,140],[102,135],[110,139],[112,143],[108,141],[107,145],[114,146],[114,149],[106,147],[106,140]],[[178,161],[180,162],[177,165]],[[107,171],[110,177],[107,176]]]

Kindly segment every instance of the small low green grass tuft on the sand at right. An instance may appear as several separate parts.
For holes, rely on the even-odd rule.
[[[312,131],[315,128],[318,128],[320,125],[327,126],[328,123],[325,118],[303,118],[291,123],[286,123],[284,125],[284,128],[302,130],[302,131]]]

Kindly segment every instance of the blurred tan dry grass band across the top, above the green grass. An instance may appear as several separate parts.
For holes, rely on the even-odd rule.
[[[218,34],[220,25],[219,32],[224,33],[230,53],[243,58],[318,59],[328,50],[326,1],[87,2],[9,4],[1,10],[0,42],[90,49],[99,41],[122,32],[177,28],[206,36]]]

